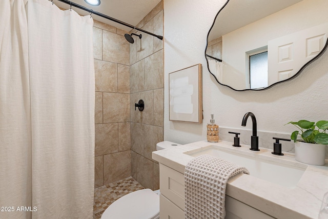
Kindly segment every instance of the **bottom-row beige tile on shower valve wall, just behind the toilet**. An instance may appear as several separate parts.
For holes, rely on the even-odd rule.
[[[153,190],[153,162],[138,156],[137,181],[141,186]]]

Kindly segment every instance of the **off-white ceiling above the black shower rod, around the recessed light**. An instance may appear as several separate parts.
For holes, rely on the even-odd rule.
[[[100,12],[107,16],[118,19],[119,21],[125,22],[132,26],[136,26],[141,19],[143,19],[161,0],[100,0],[101,3],[99,6],[91,6],[88,5],[84,0],[72,0],[73,3],[78,5],[90,8],[94,11]],[[58,0],[53,0],[54,4],[60,8],[69,9],[70,5],[59,2]],[[90,14],[87,11],[74,8],[74,11],[79,13],[80,15],[88,15]],[[103,22],[105,24],[112,25],[114,27],[130,31],[131,28],[126,27],[124,25],[120,25],[118,23],[112,22],[109,19],[97,16],[95,14],[92,15],[93,19]]]

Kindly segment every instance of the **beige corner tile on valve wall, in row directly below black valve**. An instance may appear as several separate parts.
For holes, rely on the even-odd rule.
[[[144,156],[144,125],[131,123],[131,150]]]

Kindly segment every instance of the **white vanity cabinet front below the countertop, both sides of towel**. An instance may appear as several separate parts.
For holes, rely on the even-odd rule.
[[[160,218],[185,218],[185,175],[159,164]],[[269,216],[235,198],[226,195],[226,219],[272,219]]]

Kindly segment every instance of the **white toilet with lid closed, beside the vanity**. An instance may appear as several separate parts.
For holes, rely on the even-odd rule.
[[[168,149],[180,144],[164,141],[156,144],[156,150]],[[111,204],[101,219],[158,219],[159,190],[141,189],[124,195]]]

